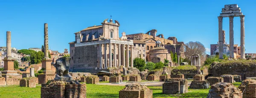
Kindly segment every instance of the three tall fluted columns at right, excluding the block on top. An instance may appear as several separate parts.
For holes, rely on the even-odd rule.
[[[222,32],[222,16],[218,16],[218,37],[219,37],[219,58],[223,59],[223,32]],[[233,30],[233,19],[234,16],[229,16],[230,19],[230,58],[234,58],[234,30]],[[245,47],[244,47],[244,15],[240,16],[240,23],[241,23],[241,59],[245,59]]]

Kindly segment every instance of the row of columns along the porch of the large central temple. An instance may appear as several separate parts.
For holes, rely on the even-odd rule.
[[[118,45],[118,66],[117,66],[117,58],[116,58],[116,45]],[[107,46],[109,46],[109,57],[107,54]],[[121,46],[122,46],[122,54],[121,54]],[[104,44],[104,60],[103,60],[103,54],[102,54],[102,44],[99,44],[99,69],[107,69],[108,66],[110,68],[112,67],[120,67],[121,65],[125,66],[126,68],[128,67],[133,67],[133,59],[131,59],[131,66],[129,63],[129,46],[131,47],[131,58],[133,58],[133,45],[128,45],[128,44],[116,44],[113,43],[113,64],[112,64],[112,43],[109,44]],[[126,50],[125,50],[126,47]],[[126,55],[125,55],[126,52]],[[121,64],[121,56],[122,56],[122,64]],[[126,60],[125,60],[126,56]],[[105,62],[103,66],[103,62]],[[108,65],[109,64],[109,65]]]

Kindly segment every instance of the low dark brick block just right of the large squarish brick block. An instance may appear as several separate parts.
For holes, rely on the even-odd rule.
[[[209,82],[207,80],[192,81],[189,88],[192,88],[192,89],[207,89],[207,88],[209,88]]]

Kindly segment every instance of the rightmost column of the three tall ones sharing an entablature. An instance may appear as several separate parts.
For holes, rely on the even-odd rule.
[[[241,59],[245,59],[245,47],[244,47],[244,37],[245,37],[245,31],[244,31],[244,15],[240,16],[240,22],[241,22],[241,39],[240,39],[240,45],[241,45]]]

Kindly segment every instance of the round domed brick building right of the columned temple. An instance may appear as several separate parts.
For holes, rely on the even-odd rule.
[[[148,52],[150,62],[159,63],[161,61],[164,63],[164,59],[169,60],[169,62],[172,61],[171,54],[163,46],[161,41],[156,41],[156,47]]]

